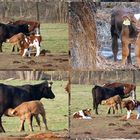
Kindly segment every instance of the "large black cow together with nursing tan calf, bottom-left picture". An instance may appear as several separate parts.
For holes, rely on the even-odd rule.
[[[0,132],[5,132],[2,125],[2,115],[18,116],[20,118],[20,131],[24,130],[24,122],[27,120],[30,131],[33,116],[40,127],[38,115],[40,114],[47,130],[47,122],[41,98],[54,99],[51,90],[52,82],[47,81],[36,85],[11,86],[0,84]]]

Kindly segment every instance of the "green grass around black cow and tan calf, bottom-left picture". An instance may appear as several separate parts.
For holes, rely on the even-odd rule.
[[[36,84],[42,81],[21,81],[21,80],[11,80],[9,82],[0,81],[10,85],[22,85],[22,84]],[[66,85],[66,81],[53,81],[52,91],[55,94],[55,99],[41,99],[45,110],[46,110],[46,118],[48,128],[51,131],[63,131],[64,129],[68,129],[68,96],[64,90],[64,86]],[[25,132],[18,132],[19,128],[19,118],[17,117],[2,117],[3,126],[6,130],[6,133],[1,133],[1,136],[22,136],[29,134],[28,126],[25,122]],[[41,118],[41,126],[42,132],[44,132],[44,124]],[[37,127],[37,123],[33,121],[34,132],[40,132]]]

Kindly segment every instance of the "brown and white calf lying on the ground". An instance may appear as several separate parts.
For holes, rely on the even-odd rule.
[[[91,109],[83,109],[78,112],[73,113],[73,118],[77,119],[92,119],[91,118]]]

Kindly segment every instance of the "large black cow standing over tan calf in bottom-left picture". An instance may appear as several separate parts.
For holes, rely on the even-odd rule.
[[[5,132],[1,117],[8,108],[15,108],[22,102],[40,100],[41,98],[55,98],[47,81],[41,84],[23,86],[0,84],[0,132]]]

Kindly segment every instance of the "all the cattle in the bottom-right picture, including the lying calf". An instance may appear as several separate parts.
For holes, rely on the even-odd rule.
[[[130,97],[129,99],[125,99]],[[95,85],[92,88],[92,98],[93,98],[93,110],[95,114],[98,114],[99,104],[108,105],[107,113],[113,114],[118,113],[120,108],[122,113],[122,108],[127,109],[127,119],[130,118],[131,112],[137,110],[137,119],[140,119],[140,101],[136,100],[136,85],[126,84],[126,83],[107,83],[103,86]],[[73,118],[91,119],[91,109],[86,108],[75,112]]]

